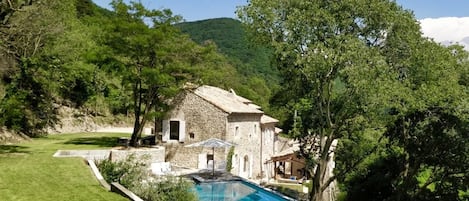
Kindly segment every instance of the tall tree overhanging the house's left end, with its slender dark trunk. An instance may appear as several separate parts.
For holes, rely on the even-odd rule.
[[[125,68],[123,85],[132,91],[134,131],[131,145],[147,121],[162,119],[172,98],[186,82],[232,83],[224,80],[233,67],[208,43],[199,46],[173,26],[180,21],[170,10],[147,10],[141,3],[112,2],[115,17],[106,45]]]

